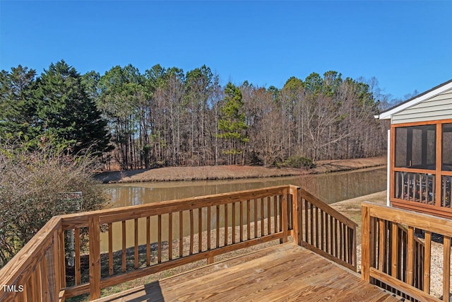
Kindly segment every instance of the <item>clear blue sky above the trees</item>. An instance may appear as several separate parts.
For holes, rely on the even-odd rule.
[[[403,98],[452,79],[451,16],[452,1],[0,0],[0,69],[206,64],[278,88],[334,70]]]

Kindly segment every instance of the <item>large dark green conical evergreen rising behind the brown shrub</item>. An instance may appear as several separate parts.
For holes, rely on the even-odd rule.
[[[69,148],[74,153],[109,149],[107,122],[72,66],[63,60],[50,64],[37,81],[35,99],[41,141]]]

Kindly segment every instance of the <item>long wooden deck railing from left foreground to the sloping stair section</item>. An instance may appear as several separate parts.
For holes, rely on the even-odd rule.
[[[355,232],[288,185],[56,216],[1,269],[10,287],[0,301],[95,299],[107,286],[288,236],[356,271]]]

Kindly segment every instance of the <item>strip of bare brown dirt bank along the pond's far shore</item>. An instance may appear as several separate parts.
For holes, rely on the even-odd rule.
[[[128,171],[110,171],[96,175],[102,182],[153,182],[177,180],[226,180],[239,178],[268,178],[302,174],[318,174],[386,164],[386,157],[318,161],[316,168],[266,168],[250,165],[208,165],[202,167],[168,167]]]

